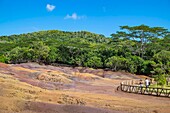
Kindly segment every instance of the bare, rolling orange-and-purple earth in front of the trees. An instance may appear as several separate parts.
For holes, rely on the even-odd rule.
[[[170,113],[170,98],[117,91],[143,76],[82,67],[0,63],[0,113]]]

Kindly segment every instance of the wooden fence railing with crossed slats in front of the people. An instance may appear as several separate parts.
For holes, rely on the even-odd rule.
[[[170,97],[170,89],[167,88],[155,88],[155,87],[144,87],[139,85],[127,85],[120,84],[121,91],[128,93],[137,93],[143,95],[153,95],[153,96],[162,96],[162,97]]]

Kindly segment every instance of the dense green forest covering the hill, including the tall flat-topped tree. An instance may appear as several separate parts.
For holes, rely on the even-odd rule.
[[[120,29],[111,38],[58,30],[1,36],[0,61],[62,63],[166,78],[170,73],[169,31],[146,25]]]

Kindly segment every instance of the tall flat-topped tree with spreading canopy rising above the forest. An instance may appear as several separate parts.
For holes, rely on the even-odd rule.
[[[140,26],[120,26],[121,32],[112,34],[113,38],[123,38],[135,40],[138,42],[136,45],[136,55],[144,58],[146,53],[146,44],[153,42],[155,38],[163,38],[169,34],[168,30],[163,27],[149,27],[147,25]]]

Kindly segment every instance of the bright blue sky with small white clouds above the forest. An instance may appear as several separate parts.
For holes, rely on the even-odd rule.
[[[110,36],[141,24],[170,30],[170,0],[0,0],[0,36],[52,29]]]

